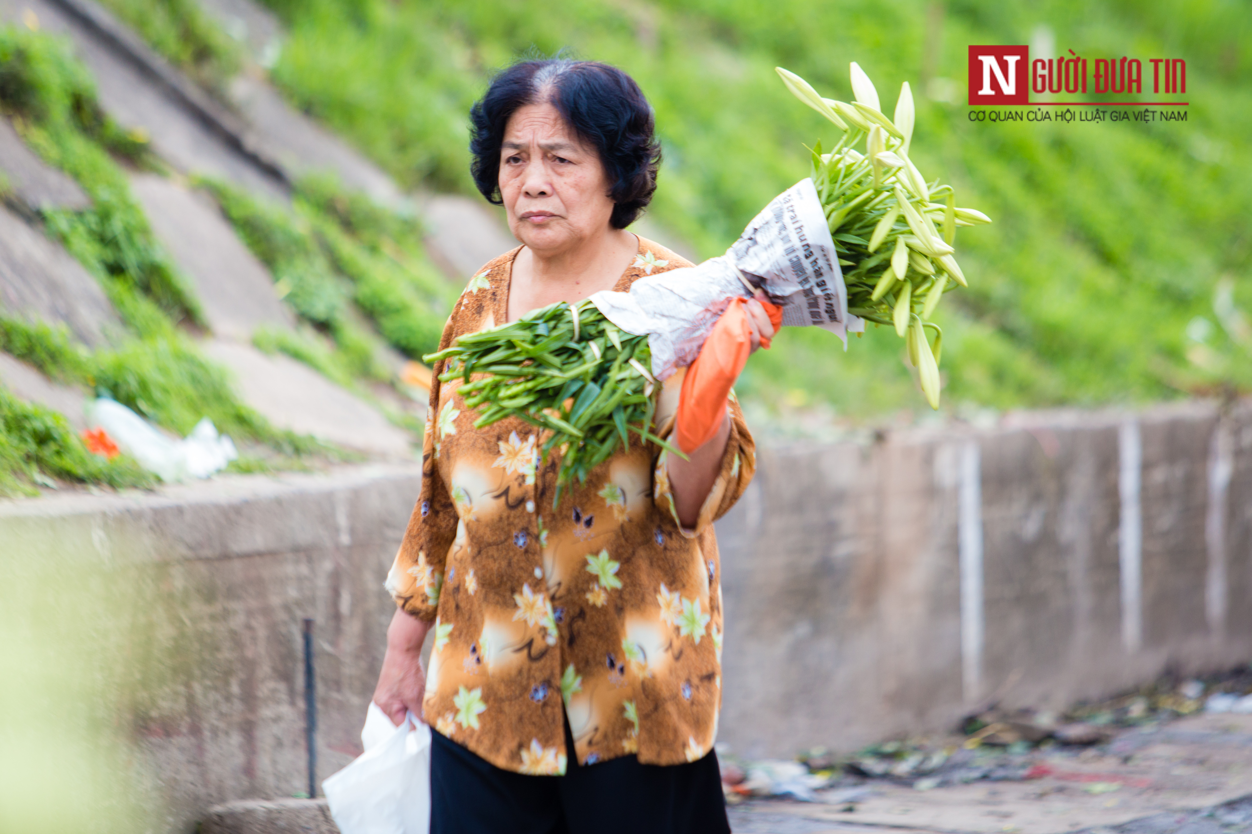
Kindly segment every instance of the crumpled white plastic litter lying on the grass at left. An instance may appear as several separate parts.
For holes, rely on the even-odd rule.
[[[170,440],[121,403],[105,398],[88,403],[86,419],[165,481],[208,478],[239,456],[234,441],[219,435],[209,418],[197,423],[185,440]]]

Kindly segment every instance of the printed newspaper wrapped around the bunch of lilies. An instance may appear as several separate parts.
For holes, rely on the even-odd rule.
[[[835,241],[811,179],[770,200],[725,255],[641,278],[627,293],[596,293],[591,303],[626,333],[647,334],[652,375],[666,379],[695,361],[731,299],[754,289],[782,308],[784,325],[825,328],[845,349],[848,333],[865,329],[848,313]]]

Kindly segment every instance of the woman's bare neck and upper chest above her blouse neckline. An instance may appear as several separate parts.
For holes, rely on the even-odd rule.
[[[508,320],[557,301],[581,301],[611,290],[639,253],[639,239],[612,229],[578,246],[542,253],[523,246],[513,259]]]

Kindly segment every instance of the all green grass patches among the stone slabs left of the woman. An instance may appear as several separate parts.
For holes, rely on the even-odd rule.
[[[238,49],[192,0],[109,0],[109,5],[155,49],[209,86],[224,89],[238,69]],[[273,430],[234,398],[227,376],[182,333],[180,323],[204,324],[199,305],[153,239],[123,170],[160,169],[160,163],[141,135],[120,131],[100,110],[90,75],[65,43],[21,28],[0,28],[0,111],[14,119],[46,161],[90,194],[88,210],[50,210],[43,220],[49,234],[101,281],[129,330],[116,350],[90,353],[70,345],[61,331],[0,315],[0,349],[55,378],[105,390],[178,433],[185,434],[208,415],[222,430],[263,441],[280,455],[337,455],[309,439]],[[426,258],[414,219],[344,194],[324,178],[297,185],[294,211],[220,183],[202,186],[270,266],[277,289],[303,319],[294,333],[258,333],[258,346],[305,361],[367,399],[371,393],[361,383],[391,381],[392,374],[376,355],[378,338],[362,326],[362,316],[351,313],[351,301],[373,319],[383,339],[408,355],[437,346],[457,290]],[[94,465],[64,420],[56,423],[56,415],[0,394],[5,398],[0,400],[0,494],[29,491],[49,475],[113,485],[150,481],[125,461],[116,471]],[[419,430],[411,418],[384,410],[406,428]],[[264,469],[274,463],[299,465],[288,458],[249,458],[235,468]]]

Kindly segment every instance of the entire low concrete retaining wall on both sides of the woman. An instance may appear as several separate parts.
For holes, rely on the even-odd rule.
[[[0,501],[0,555],[55,541],[134,569],[155,670],[134,734],[188,829],[305,789],[300,620],[321,774],[356,753],[392,605],[407,468]],[[1252,408],[1022,415],[985,431],[762,449],[721,523],[721,740],[745,755],[947,729],[1252,658]]]

